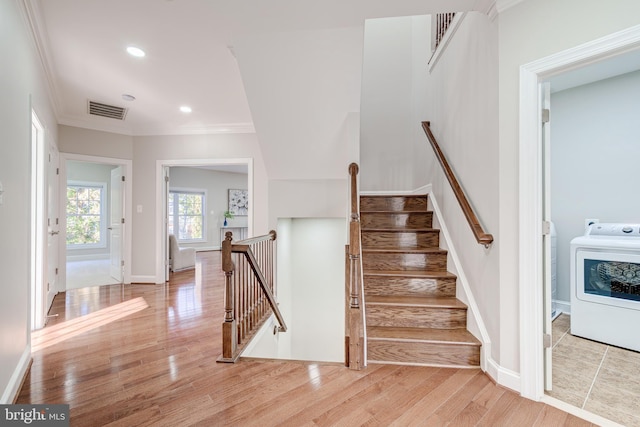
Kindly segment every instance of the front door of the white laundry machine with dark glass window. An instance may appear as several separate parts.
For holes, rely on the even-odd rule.
[[[640,310],[640,253],[578,250],[576,279],[582,301]]]

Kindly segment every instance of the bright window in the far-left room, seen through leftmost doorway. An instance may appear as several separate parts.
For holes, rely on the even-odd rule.
[[[106,247],[106,183],[67,183],[67,246]]]

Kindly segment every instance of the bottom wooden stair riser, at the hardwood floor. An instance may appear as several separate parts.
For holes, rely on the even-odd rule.
[[[480,347],[449,343],[372,340],[367,343],[371,362],[443,366],[480,366]]]

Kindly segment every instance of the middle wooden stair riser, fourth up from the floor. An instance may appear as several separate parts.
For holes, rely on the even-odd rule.
[[[362,267],[368,270],[446,271],[447,254],[442,253],[372,253],[363,251]]]

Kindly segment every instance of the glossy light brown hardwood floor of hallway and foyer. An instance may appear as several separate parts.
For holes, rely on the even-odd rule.
[[[59,294],[17,403],[67,403],[72,426],[590,426],[478,369],[241,359],[221,353],[220,253],[166,285]]]

